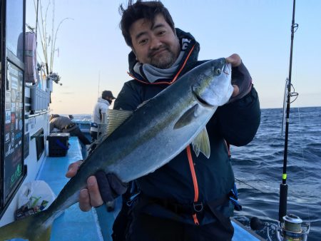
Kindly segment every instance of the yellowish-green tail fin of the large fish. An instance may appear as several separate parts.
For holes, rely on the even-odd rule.
[[[23,238],[29,241],[49,241],[54,218],[49,218],[47,210],[24,217],[0,227],[0,241]]]

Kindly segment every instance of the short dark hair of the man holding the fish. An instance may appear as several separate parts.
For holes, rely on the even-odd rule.
[[[123,33],[123,38],[130,47],[133,47],[133,42],[131,41],[129,29],[138,19],[148,19],[154,24],[156,15],[162,14],[165,21],[175,33],[175,24],[172,16],[170,16],[168,9],[165,8],[161,1],[137,0],[136,3],[133,3],[133,0],[129,0],[127,9],[124,9],[123,4],[119,6],[119,13],[122,15],[119,26]]]

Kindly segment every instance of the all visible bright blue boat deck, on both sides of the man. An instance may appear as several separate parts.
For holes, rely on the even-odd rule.
[[[68,178],[65,177],[68,165],[82,159],[81,145],[78,143],[78,138],[69,138],[69,143],[70,148],[65,157],[46,157],[37,177],[38,180],[44,180],[48,183],[56,195],[68,182]],[[82,212],[78,208],[78,204],[72,205],[54,221],[51,241],[111,241],[113,220],[120,208],[121,200],[119,198],[116,201],[114,212],[107,212],[104,205],[93,208],[89,212]],[[235,228],[233,241],[260,240],[260,237],[255,237],[240,223],[233,221],[233,226]],[[21,241],[21,239],[14,240]]]

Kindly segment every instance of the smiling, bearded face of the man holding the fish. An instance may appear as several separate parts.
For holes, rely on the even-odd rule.
[[[129,29],[133,52],[141,63],[157,68],[169,68],[178,58],[180,43],[178,37],[165,21],[163,15],[155,17],[155,23],[138,19]]]

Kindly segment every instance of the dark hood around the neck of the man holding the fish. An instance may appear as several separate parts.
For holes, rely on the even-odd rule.
[[[198,61],[198,53],[200,51],[200,44],[195,41],[194,37],[190,34],[190,33],[186,33],[180,29],[175,29],[176,30],[176,34],[178,36],[178,39],[180,40],[180,48],[181,50],[183,50],[183,48],[185,48],[185,53],[184,56],[182,58],[182,61],[180,61],[180,65],[179,68],[181,68],[181,66],[183,66],[183,63],[185,62],[186,58],[188,58],[187,63],[185,63],[185,66],[183,68],[183,71],[180,72],[180,76],[185,73],[185,69],[190,69],[190,66],[195,64],[196,61]],[[188,43],[188,46],[182,46],[182,39],[188,39],[190,40],[190,43]],[[190,51],[193,51],[190,53]],[[190,53],[190,55],[189,55]],[[135,53],[133,53],[133,51],[131,51],[128,54],[128,65],[129,65],[129,73],[131,74],[131,76],[137,78],[140,81],[144,81],[144,82],[148,82],[145,80],[145,78],[141,75],[139,75],[138,73],[136,73],[135,71],[133,71],[133,67],[136,65],[137,63],[137,59],[135,56]]]

